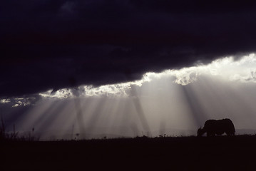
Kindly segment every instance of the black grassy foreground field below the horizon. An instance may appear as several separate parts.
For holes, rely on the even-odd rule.
[[[0,170],[256,170],[255,135],[0,145]]]

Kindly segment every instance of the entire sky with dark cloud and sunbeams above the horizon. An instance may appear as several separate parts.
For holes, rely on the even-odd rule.
[[[182,135],[210,118],[256,129],[254,1],[9,0],[0,16],[10,130]]]

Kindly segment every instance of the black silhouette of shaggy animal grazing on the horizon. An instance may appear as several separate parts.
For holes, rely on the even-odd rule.
[[[207,136],[222,135],[235,135],[235,127],[230,119],[222,120],[207,120],[203,129],[198,129],[198,136],[202,136],[207,133]]]

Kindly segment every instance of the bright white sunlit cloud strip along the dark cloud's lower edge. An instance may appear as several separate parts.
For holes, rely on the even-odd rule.
[[[117,83],[99,87],[79,86],[78,88],[63,88],[60,90],[48,90],[39,93],[43,98],[74,98],[74,97],[91,97],[91,96],[108,96],[108,97],[128,97],[131,86],[142,86],[143,83],[158,80],[161,78],[172,78],[173,83],[182,86],[188,85],[198,80],[202,75],[218,76],[227,81],[256,82],[256,56],[252,53],[243,56],[235,61],[234,57],[229,56],[217,59],[208,65],[203,63],[179,70],[166,70],[161,73],[145,73],[139,81]]]

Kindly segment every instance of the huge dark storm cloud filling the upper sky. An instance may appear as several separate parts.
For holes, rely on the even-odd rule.
[[[0,6],[0,95],[138,79],[256,48],[254,1],[17,1]]]

